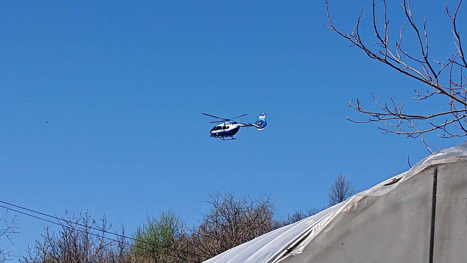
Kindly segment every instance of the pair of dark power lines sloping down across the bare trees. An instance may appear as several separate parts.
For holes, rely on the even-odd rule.
[[[68,222],[68,223],[71,223],[71,224],[78,225],[78,226],[82,226],[82,227],[87,227],[87,228],[90,228],[90,229],[98,230],[99,232],[104,232],[104,233],[107,233],[107,234],[120,236],[120,237],[127,238],[127,239],[130,239],[130,240],[133,240],[133,241],[146,243],[146,244],[153,245],[153,246],[160,247],[160,248],[164,248],[164,249],[170,249],[170,250],[174,250],[174,251],[178,251],[178,252],[182,252],[182,253],[187,253],[187,254],[190,254],[190,255],[193,255],[193,256],[200,256],[200,257],[204,257],[204,258],[209,258],[209,257],[207,257],[207,256],[198,255],[198,254],[195,254],[195,253],[192,253],[192,252],[188,252],[188,251],[184,251],[184,250],[180,250],[180,249],[169,248],[169,247],[166,247],[166,246],[163,246],[163,245],[159,245],[159,244],[155,244],[155,243],[151,243],[151,242],[146,242],[146,241],[143,241],[143,240],[139,240],[139,239],[135,239],[135,238],[132,238],[132,237],[120,235],[120,234],[117,234],[117,233],[108,232],[108,231],[106,231],[106,230],[99,229],[99,228],[96,228],[96,227],[86,226],[86,225],[80,224],[80,223],[78,223],[78,222],[73,222],[73,221],[66,220],[66,219],[63,219],[63,218],[59,218],[59,217],[56,217],[56,216],[53,216],[53,215],[49,215],[49,214],[46,214],[46,213],[41,213],[41,212],[38,212],[38,211],[35,211],[35,210],[32,210],[32,209],[28,209],[28,208],[26,208],[26,207],[17,206],[17,205],[10,204],[10,203],[7,203],[7,202],[1,201],[1,200],[0,200],[0,203],[7,204],[7,205],[9,205],[9,206],[18,207],[18,208],[21,208],[21,209],[24,209],[24,210],[27,210],[27,211],[30,211],[30,212],[33,212],[33,213],[42,214],[42,215],[44,215],[44,216],[48,216],[48,217],[51,217],[51,218],[54,218],[54,219],[57,219],[57,220],[62,220],[62,221],[65,221],[65,222]],[[0,207],[6,208],[6,209],[10,209],[10,210],[12,210],[12,211],[15,211],[15,212],[18,212],[18,213],[22,213],[22,214],[25,214],[25,215],[28,215],[28,216],[32,216],[32,217],[34,217],[34,218],[37,218],[37,219],[40,219],[40,220],[44,220],[44,221],[47,221],[47,222],[50,222],[50,223],[53,223],[53,224],[57,224],[57,225],[60,225],[60,226],[64,226],[64,225],[59,224],[59,223],[57,223],[57,222],[53,222],[53,221],[50,221],[50,220],[47,220],[47,219],[43,219],[43,218],[40,218],[40,217],[31,215],[31,214],[28,214],[28,213],[23,213],[23,212],[14,210],[14,209],[9,208],[9,207],[5,207],[5,206],[0,206]],[[65,227],[66,227],[66,226],[65,226]],[[108,239],[110,239],[110,238],[108,238]],[[113,240],[113,239],[111,239],[111,240]],[[113,240],[113,241],[115,241],[115,240]],[[129,244],[129,245],[132,245],[132,244]],[[136,247],[137,247],[137,246],[136,246]],[[144,249],[144,248],[143,248],[143,249]],[[152,249],[147,249],[147,250],[150,250],[150,251],[153,251],[153,252],[157,252],[157,251],[154,251],[154,250],[152,250]],[[157,253],[162,253],[162,252],[157,252]],[[165,253],[162,253],[162,254],[165,254]],[[169,255],[169,254],[166,254],[166,255]],[[169,255],[169,256],[172,256],[172,255]]]

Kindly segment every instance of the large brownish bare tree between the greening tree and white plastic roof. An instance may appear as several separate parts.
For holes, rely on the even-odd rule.
[[[274,229],[274,205],[262,199],[235,198],[231,192],[208,195],[211,210],[198,227],[191,229],[190,242],[197,253],[216,256]]]

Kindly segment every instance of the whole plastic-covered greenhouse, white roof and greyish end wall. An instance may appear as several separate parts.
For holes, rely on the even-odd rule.
[[[205,263],[428,262],[437,175],[433,262],[466,262],[467,143],[440,150],[311,217]]]

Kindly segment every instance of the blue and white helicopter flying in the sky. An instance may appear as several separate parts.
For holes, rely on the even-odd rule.
[[[235,138],[233,138],[233,135],[235,135],[238,132],[240,127],[253,126],[253,127],[256,127],[259,131],[261,131],[268,124],[266,122],[266,114],[265,113],[260,114],[260,116],[258,117],[258,120],[256,121],[256,123],[248,123],[248,122],[247,123],[241,123],[241,122],[237,122],[237,121],[232,121],[233,119],[240,118],[240,117],[243,117],[243,116],[248,115],[248,114],[243,114],[243,115],[233,117],[233,118],[230,118],[230,119],[224,119],[224,118],[220,118],[220,117],[213,116],[213,115],[210,115],[210,114],[205,114],[205,113],[203,113],[203,114],[206,115],[206,116],[210,116],[210,117],[222,120],[222,121],[210,121],[209,122],[209,123],[222,122],[222,123],[219,123],[216,126],[214,126],[210,131],[211,137],[219,138],[222,141],[235,140]]]

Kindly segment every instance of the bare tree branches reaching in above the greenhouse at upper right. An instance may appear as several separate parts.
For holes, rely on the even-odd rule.
[[[466,57],[462,47],[459,29],[456,24],[456,18],[460,14],[460,6],[462,0],[459,1],[453,13],[448,11],[446,5],[446,13],[452,21],[452,33],[454,36],[453,53],[447,57],[445,61],[442,59],[429,58],[429,40],[427,33],[426,17],[424,23],[420,28],[414,19],[414,13],[410,9],[410,0],[403,0],[401,7],[402,12],[407,21],[402,23],[399,30],[397,40],[393,43],[389,42],[389,18],[387,14],[386,0],[382,0],[382,8],[384,10],[382,23],[377,23],[376,19],[376,4],[373,0],[373,28],[375,31],[375,43],[364,43],[360,35],[361,14],[360,11],[357,22],[353,31],[342,33],[331,22],[328,2],[325,0],[326,14],[328,18],[329,28],[337,32],[340,36],[346,38],[350,42],[350,47],[356,47],[365,52],[365,54],[388,65],[390,68],[414,78],[425,85],[425,93],[420,93],[415,90],[413,99],[415,100],[446,100],[449,105],[446,110],[441,110],[436,113],[422,114],[422,113],[405,113],[403,106],[406,100],[397,104],[392,98],[389,103],[379,103],[373,93],[371,94],[375,102],[377,110],[367,110],[361,105],[361,101],[357,99],[355,102],[351,100],[349,107],[354,108],[356,111],[365,114],[368,119],[355,121],[347,117],[349,121],[357,123],[367,123],[372,121],[383,122],[384,125],[380,126],[382,133],[393,133],[397,135],[405,135],[406,137],[417,138],[420,137],[422,142],[430,152],[432,150],[425,142],[423,135],[425,133],[438,130],[439,136],[442,138],[451,138],[457,136],[467,135],[467,82],[466,77],[463,75],[467,70]],[[392,2],[391,2],[392,3]],[[409,52],[403,43],[404,29],[406,26],[410,27],[415,33],[415,43],[419,47],[417,55]],[[431,54],[431,53],[430,53]],[[432,56],[430,56],[432,57]],[[403,128],[403,123],[406,123],[407,128]],[[417,125],[420,123],[422,128]],[[442,133],[442,134],[441,134]]]

